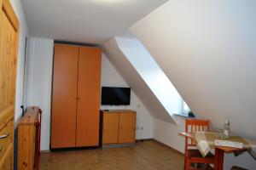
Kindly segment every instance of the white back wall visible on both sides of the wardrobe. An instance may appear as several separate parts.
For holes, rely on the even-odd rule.
[[[28,41],[28,83],[27,105],[38,105],[43,111],[41,150],[49,150],[51,81],[54,41],[32,37]],[[115,71],[106,56],[102,54],[102,86],[128,87],[119,73]],[[153,119],[136,94],[131,93],[131,105],[102,109],[133,109],[137,111],[137,139],[153,138]]]

